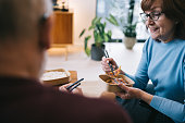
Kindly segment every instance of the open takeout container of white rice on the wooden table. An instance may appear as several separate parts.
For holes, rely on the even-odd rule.
[[[55,72],[55,74],[62,72],[63,75],[61,77],[58,76],[55,78],[53,76],[52,77],[47,76],[48,79],[45,79],[44,76],[46,74],[48,75],[49,72],[52,73],[52,75],[54,74],[54,72]],[[41,79],[42,84],[45,84],[45,85],[57,86],[57,85],[67,84],[71,81],[70,76],[71,76],[71,74],[69,71],[65,71],[64,69],[58,69],[58,70],[46,71],[40,79]]]

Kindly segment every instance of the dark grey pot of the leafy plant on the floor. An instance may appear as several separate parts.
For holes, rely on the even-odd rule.
[[[101,47],[96,47],[95,44],[91,45],[91,60],[101,61],[102,57],[104,56],[104,45]]]

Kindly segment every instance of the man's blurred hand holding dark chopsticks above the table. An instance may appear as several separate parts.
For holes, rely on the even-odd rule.
[[[61,91],[69,91],[69,90],[66,89],[66,87],[70,86],[70,85],[71,85],[71,84],[65,84],[65,85],[63,85],[63,86],[60,86],[60,87],[59,87],[59,90],[61,90]],[[69,93],[70,93],[70,91],[69,91]],[[83,90],[82,90],[81,87],[76,87],[76,88],[73,89],[71,93],[83,96]]]

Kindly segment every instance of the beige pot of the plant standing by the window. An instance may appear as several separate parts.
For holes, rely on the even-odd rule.
[[[134,45],[136,44],[136,38],[124,37],[123,42],[126,49],[133,49]]]

